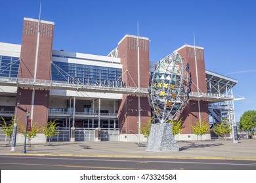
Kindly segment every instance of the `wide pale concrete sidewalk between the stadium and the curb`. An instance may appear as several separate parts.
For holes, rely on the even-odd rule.
[[[0,154],[32,156],[95,156],[116,158],[182,158],[182,159],[247,159],[256,161],[256,140],[233,141],[186,141],[177,142],[179,152],[146,152],[137,142],[53,142],[26,146],[27,154],[21,154],[23,144],[16,144],[14,152],[7,142],[0,142]],[[194,143],[194,144],[192,144]],[[142,142],[142,144],[146,144]],[[90,146],[89,149],[79,145]]]

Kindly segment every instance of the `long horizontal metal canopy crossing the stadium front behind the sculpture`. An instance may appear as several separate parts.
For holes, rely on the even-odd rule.
[[[0,86],[14,86],[21,88],[37,88],[40,90],[71,90],[77,92],[97,92],[97,93],[120,93],[129,95],[148,95],[148,88],[113,88],[104,86],[87,86],[79,84],[68,84],[66,82],[54,82],[51,80],[34,80],[29,78],[1,78]],[[234,95],[226,93],[200,93],[191,92],[190,99],[199,99],[209,102],[232,101]]]

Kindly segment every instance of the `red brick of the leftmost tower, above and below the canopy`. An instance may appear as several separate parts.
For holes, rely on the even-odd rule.
[[[35,78],[35,52],[37,47],[37,26],[38,22],[24,20],[22,32],[22,48],[20,53],[19,78]],[[51,58],[53,52],[53,31],[54,25],[41,22],[39,36],[39,50],[37,59],[36,79],[51,79]],[[16,95],[20,103],[17,109],[17,117],[20,116],[22,123],[26,122],[26,112],[32,114],[32,90],[33,88],[18,88]],[[35,90],[32,122],[37,125],[45,124],[48,118],[49,91]]]

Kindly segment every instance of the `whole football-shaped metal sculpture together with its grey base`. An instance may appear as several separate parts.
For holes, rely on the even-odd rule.
[[[176,120],[179,111],[188,102],[191,91],[189,65],[185,65],[179,53],[174,52],[161,59],[150,76],[148,99],[154,115],[159,121],[152,124],[146,151],[175,152],[175,142],[170,120]]]

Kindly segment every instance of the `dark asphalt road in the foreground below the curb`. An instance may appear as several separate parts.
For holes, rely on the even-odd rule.
[[[0,156],[1,170],[256,170],[256,161]]]

